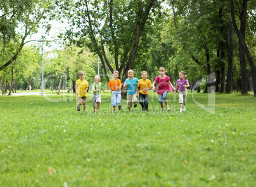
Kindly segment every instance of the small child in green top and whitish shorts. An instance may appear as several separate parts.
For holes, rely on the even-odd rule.
[[[101,82],[101,77],[96,75],[94,77],[94,84],[92,84],[92,106],[94,107],[94,112],[97,113],[99,110],[99,105],[101,105],[101,90],[104,91]]]

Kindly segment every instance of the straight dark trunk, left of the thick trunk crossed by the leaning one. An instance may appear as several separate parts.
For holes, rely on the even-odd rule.
[[[230,11],[230,6],[229,6]],[[229,63],[227,65],[227,84],[226,93],[231,93],[232,89],[232,71],[233,71],[233,37],[232,37],[232,22],[229,22],[228,27],[228,43],[229,47]]]

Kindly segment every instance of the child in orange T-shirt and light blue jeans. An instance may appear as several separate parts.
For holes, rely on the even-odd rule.
[[[122,83],[118,79],[119,72],[117,70],[113,71],[113,79],[108,82],[108,86],[111,91],[111,106],[113,106],[114,112],[116,112],[115,107],[118,105],[119,110],[122,110],[121,106],[121,87]]]

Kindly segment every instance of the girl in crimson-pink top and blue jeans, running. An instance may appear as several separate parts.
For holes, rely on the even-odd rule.
[[[170,82],[170,77],[166,75],[166,69],[164,67],[159,68],[159,76],[155,77],[153,82],[153,91],[155,91],[155,83],[158,82],[157,93],[159,94],[159,103],[161,105],[162,111],[164,111],[164,104],[166,103],[166,110],[169,111],[170,108],[167,104],[167,93],[172,91],[171,88],[175,90],[173,84]]]

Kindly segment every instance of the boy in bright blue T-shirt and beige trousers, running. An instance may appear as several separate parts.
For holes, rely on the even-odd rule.
[[[138,84],[138,79],[133,77],[134,76],[134,71],[129,70],[127,72],[128,78],[124,82],[124,87],[127,87],[127,108],[129,111],[131,111],[132,108],[132,103],[134,104],[134,108],[137,106],[138,103],[138,92],[137,92],[137,84]]]

